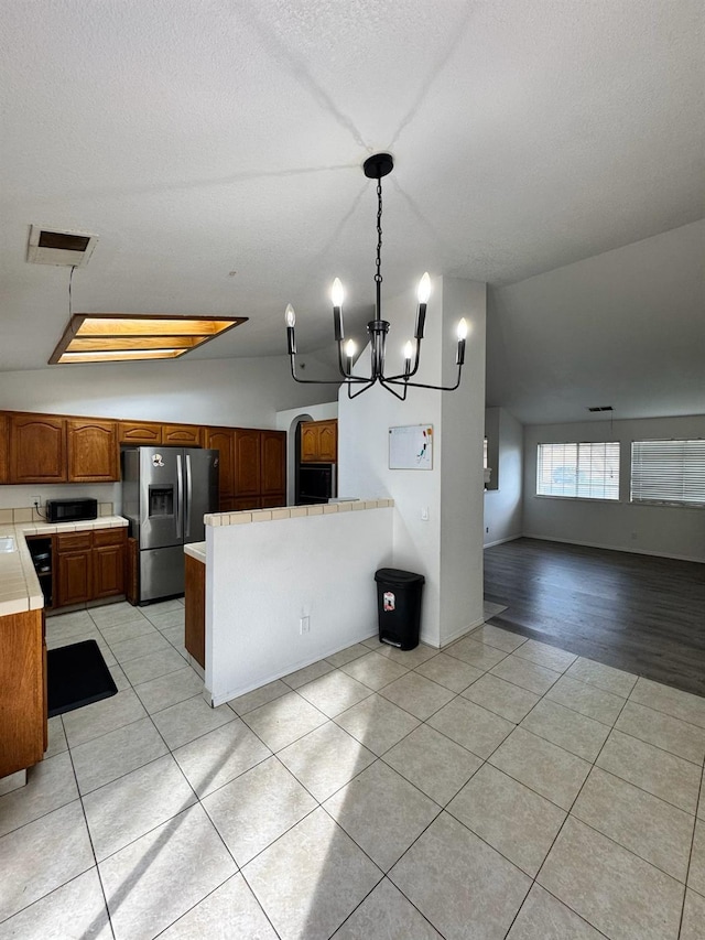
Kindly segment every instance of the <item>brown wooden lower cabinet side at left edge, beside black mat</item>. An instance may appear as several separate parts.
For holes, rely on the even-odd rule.
[[[0,617],[0,777],[44,756],[45,658],[43,611]]]

